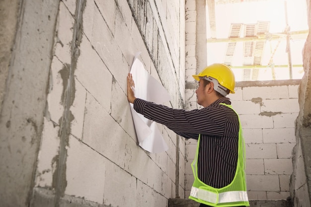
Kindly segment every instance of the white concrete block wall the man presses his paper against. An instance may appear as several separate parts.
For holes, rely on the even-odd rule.
[[[56,28],[59,41],[55,43],[48,94],[51,119],[44,123],[35,186],[53,187],[54,177],[61,176],[56,174],[60,171],[57,157],[61,156],[58,125],[64,111],[64,70],[72,64],[70,47],[76,9],[76,15],[81,12],[82,31],[78,31],[81,39],[74,71],[74,101],[69,106],[71,131],[64,148],[66,180],[59,181],[66,182],[66,186],[60,194],[106,206],[166,207],[168,198],[184,196],[184,140],[159,126],[169,146],[166,152],[152,154],[137,145],[126,98],[126,76],[135,53],[140,51],[146,69],[172,97],[166,104],[182,106],[184,69],[179,50],[183,47],[179,46],[184,43],[179,22],[180,7],[184,6],[165,1],[83,3],[60,2]]]

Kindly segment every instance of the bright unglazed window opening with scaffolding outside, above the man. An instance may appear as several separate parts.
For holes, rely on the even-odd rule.
[[[309,33],[305,0],[207,0],[207,62],[236,81],[300,79]]]

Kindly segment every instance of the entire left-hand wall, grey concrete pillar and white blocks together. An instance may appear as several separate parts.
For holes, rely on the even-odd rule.
[[[19,41],[0,90],[1,205],[167,207],[183,198],[185,140],[159,125],[166,152],[137,145],[126,80],[140,51],[171,95],[165,104],[183,108],[184,2],[18,3]]]

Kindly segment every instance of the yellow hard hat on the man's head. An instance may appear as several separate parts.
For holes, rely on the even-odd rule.
[[[203,69],[199,74],[192,75],[194,79],[200,80],[200,77],[213,77],[218,80],[219,84],[230,90],[230,93],[234,92],[235,77],[234,73],[225,64],[215,63]]]

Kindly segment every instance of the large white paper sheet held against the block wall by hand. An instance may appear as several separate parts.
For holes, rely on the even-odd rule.
[[[169,101],[170,96],[165,88],[147,72],[142,62],[137,58],[138,55],[139,53],[136,54],[130,71],[135,83],[135,96],[156,104]],[[130,103],[130,106],[139,145],[153,153],[166,151],[168,146],[157,129],[156,123],[138,114],[134,110],[133,104]]]

